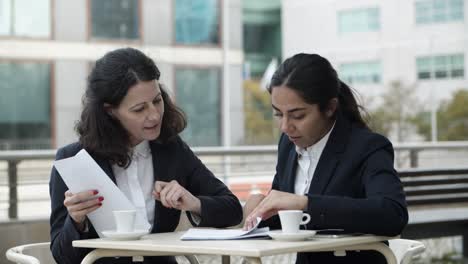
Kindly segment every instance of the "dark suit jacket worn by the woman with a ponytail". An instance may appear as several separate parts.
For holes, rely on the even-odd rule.
[[[307,229],[341,228],[346,232],[395,236],[408,222],[403,188],[393,167],[387,138],[351,123],[338,113],[335,127],[317,164],[306,212]],[[282,135],[272,189],[294,193],[295,145]],[[280,228],[278,216],[267,221]],[[297,263],[385,263],[374,252],[298,254]]]

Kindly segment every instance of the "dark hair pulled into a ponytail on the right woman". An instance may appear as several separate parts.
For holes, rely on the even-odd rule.
[[[353,91],[340,81],[330,62],[317,55],[299,53],[286,59],[271,78],[268,91],[276,86],[287,86],[295,90],[309,104],[318,104],[324,112],[332,98],[338,98],[338,109],[351,122],[367,127],[361,117]]]

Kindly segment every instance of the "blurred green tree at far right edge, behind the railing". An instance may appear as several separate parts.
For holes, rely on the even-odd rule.
[[[441,103],[437,112],[438,140],[468,140],[468,90],[460,89]],[[422,112],[414,123],[418,132],[430,139],[430,113]]]

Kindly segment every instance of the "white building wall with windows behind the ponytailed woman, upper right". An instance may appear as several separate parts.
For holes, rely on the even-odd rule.
[[[416,86],[425,106],[439,103],[456,89],[468,89],[468,2],[464,21],[427,25],[415,23],[414,2],[283,0],[283,55],[318,53],[336,69],[341,63],[380,60],[382,82],[353,85],[361,94],[377,96],[389,82],[400,80]],[[363,7],[380,8],[380,30],[340,34],[337,12]],[[465,54],[465,78],[417,80],[416,57],[452,53]]]

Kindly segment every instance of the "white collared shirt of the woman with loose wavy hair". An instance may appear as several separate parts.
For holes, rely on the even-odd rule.
[[[135,206],[137,214],[153,225],[155,200],[152,195],[154,170],[149,142],[144,140],[133,148],[128,168],[112,165],[119,189]]]

